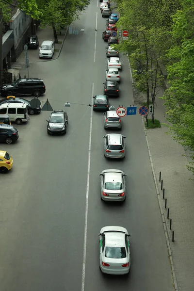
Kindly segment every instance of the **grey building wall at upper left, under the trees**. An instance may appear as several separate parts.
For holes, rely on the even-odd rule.
[[[14,31],[15,47],[15,51],[12,52],[12,62],[16,62],[16,59],[24,49],[27,37],[31,34],[31,21],[31,17],[19,9],[10,20],[10,29]]]

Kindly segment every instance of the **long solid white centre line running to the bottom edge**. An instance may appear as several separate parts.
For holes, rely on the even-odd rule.
[[[91,97],[92,100],[91,100],[91,104],[93,103],[93,96],[94,96],[94,83],[92,83],[92,97]],[[86,196],[85,196],[85,222],[84,222],[84,237],[83,237],[83,261],[82,261],[82,274],[81,274],[81,291],[84,291],[84,288],[85,288],[85,262],[86,262],[87,226],[88,226],[88,197],[89,197],[89,184],[90,184],[92,115],[93,115],[93,107],[91,106],[89,147],[88,147],[88,169],[87,169],[87,184],[86,184]]]

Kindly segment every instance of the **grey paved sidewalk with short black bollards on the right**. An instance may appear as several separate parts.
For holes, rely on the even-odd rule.
[[[158,97],[162,95],[161,90]],[[165,107],[162,106],[164,101],[158,97],[154,118],[166,123]],[[151,118],[151,115],[148,118]],[[183,146],[178,145],[171,135],[165,133],[166,131],[168,129],[163,126],[161,129],[146,129],[177,279],[175,287],[177,283],[178,291],[194,291],[194,181],[189,180],[194,176],[185,167],[189,160],[182,156],[185,154]],[[160,171],[165,189],[164,199],[159,182]],[[167,219],[168,208],[169,219]],[[171,230],[170,219],[172,219]],[[175,235],[174,242],[172,231]]]

